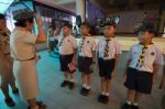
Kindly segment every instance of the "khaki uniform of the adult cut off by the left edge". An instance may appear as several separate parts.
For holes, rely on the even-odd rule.
[[[10,45],[9,45],[9,39],[10,39],[10,31],[0,31],[0,47],[4,55],[12,62],[10,57]],[[0,59],[0,76],[1,76],[1,84],[3,85],[14,85],[14,76],[12,74],[12,70],[9,69],[4,62]],[[14,86],[15,87],[15,86]]]

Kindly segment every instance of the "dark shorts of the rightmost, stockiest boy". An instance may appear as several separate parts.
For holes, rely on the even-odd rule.
[[[124,86],[129,89],[150,95],[152,90],[153,74],[150,72],[141,72],[129,67],[127,70],[127,80]]]

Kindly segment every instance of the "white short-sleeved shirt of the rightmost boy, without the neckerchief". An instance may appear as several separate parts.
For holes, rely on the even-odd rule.
[[[164,65],[163,54],[160,51],[160,48],[155,46],[154,44],[150,45],[148,48],[145,50],[144,63],[140,67],[140,66],[136,66],[136,64],[139,63],[139,58],[141,54],[142,54],[141,44],[135,44],[131,47],[130,57],[129,57],[131,59],[131,63],[129,67],[136,68],[139,70],[153,73],[154,70],[153,64]]]

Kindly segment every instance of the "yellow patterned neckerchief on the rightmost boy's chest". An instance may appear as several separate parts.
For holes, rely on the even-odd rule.
[[[144,45],[144,44],[140,43],[140,45],[142,47],[142,53],[140,55],[136,67],[142,67],[142,65],[144,64],[144,58],[145,58],[145,50],[147,50],[151,45],[153,45],[153,43],[151,43],[148,45]]]

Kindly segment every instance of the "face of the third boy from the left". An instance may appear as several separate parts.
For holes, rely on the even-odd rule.
[[[113,28],[112,25],[106,25],[106,30],[105,30],[105,36],[106,37],[113,36],[114,32],[116,32],[116,28]]]

